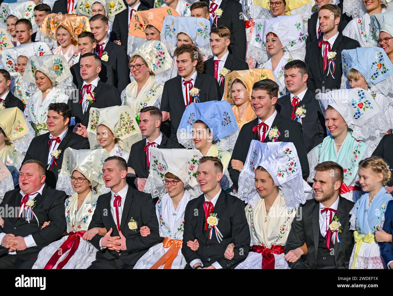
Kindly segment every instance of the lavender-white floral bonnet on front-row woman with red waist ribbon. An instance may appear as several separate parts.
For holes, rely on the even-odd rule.
[[[292,142],[262,143],[252,140],[244,167],[239,176],[238,197],[255,206],[259,193],[254,185],[255,170],[258,166],[268,171],[284,197],[288,210],[306,202],[300,161]]]

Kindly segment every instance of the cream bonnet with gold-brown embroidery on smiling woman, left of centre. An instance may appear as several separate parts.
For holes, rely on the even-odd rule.
[[[136,123],[130,106],[112,106],[107,108],[90,108],[87,135],[91,149],[99,149],[97,142],[97,127],[103,124],[118,139],[121,149],[129,152],[132,144],[142,139],[142,134]]]

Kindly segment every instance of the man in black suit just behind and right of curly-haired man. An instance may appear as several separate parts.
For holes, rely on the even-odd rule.
[[[224,94],[225,75],[221,75],[221,70],[248,70],[248,64],[237,57],[234,57],[229,51],[231,32],[228,28],[221,26],[211,28],[210,30],[210,48],[214,56],[204,62],[204,74],[214,76],[219,83],[220,97]],[[228,72],[229,73],[229,72]]]

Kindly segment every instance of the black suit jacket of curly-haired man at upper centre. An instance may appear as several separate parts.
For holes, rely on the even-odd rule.
[[[185,110],[182,81],[183,77],[178,75],[165,82],[160,106],[161,111],[169,112],[171,116],[171,140],[176,142],[176,132]],[[199,100],[201,103],[221,100],[217,80],[210,75],[201,73],[196,74],[194,87],[199,88],[200,90]]]

